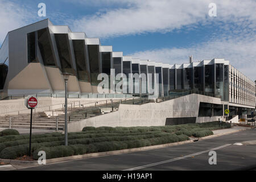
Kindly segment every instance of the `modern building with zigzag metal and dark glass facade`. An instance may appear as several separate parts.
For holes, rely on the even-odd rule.
[[[28,94],[64,96],[61,73],[72,73],[68,80],[69,96],[93,97],[97,93],[99,73],[158,73],[159,97],[177,92],[195,90],[221,99],[220,106],[200,104],[200,115],[250,115],[255,109],[255,83],[230,65],[225,59],[212,59],[184,64],[163,64],[150,60],[134,59],[113,52],[112,46],[101,46],[98,38],[88,38],[84,32],[72,32],[68,26],[55,26],[49,19],[8,32],[0,49],[1,98]],[[134,80],[139,93],[150,88],[142,79]],[[117,83],[117,81],[115,81]],[[133,93],[135,88],[132,89]]]

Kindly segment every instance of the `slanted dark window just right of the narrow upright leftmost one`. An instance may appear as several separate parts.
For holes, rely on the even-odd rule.
[[[51,46],[51,39],[48,28],[43,28],[38,31],[38,46],[44,62],[44,65],[55,66],[55,59]]]

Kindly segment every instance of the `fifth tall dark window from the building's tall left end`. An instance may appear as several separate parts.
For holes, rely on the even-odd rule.
[[[90,76],[92,78],[92,85],[98,85],[98,83],[100,82],[97,80],[98,74],[100,73],[99,50],[100,49],[98,45],[88,45]]]

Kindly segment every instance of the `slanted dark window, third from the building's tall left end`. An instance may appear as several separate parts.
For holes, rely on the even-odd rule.
[[[60,57],[60,64],[63,72],[72,73],[75,75],[75,71],[72,69],[71,55],[69,52],[69,40],[68,34],[55,34],[55,40]]]

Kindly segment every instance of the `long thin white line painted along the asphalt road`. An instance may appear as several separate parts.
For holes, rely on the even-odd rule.
[[[174,162],[174,161],[176,161],[176,160],[181,160],[181,159],[185,159],[185,158],[190,158],[190,157],[195,156],[195,155],[204,154],[204,153],[209,152],[209,151],[212,151],[212,150],[218,150],[218,149],[220,149],[220,148],[228,147],[228,146],[230,146],[230,145],[231,145],[231,144],[225,144],[224,146],[220,146],[220,147],[216,147],[216,148],[211,148],[211,149],[209,149],[209,150],[197,152],[197,153],[195,153],[195,154],[185,155],[185,156],[182,156],[182,157],[180,157],[180,158],[175,158],[175,159],[170,159],[170,160],[163,160],[163,161],[161,161],[161,162],[152,163],[152,164],[147,164],[147,165],[144,165],[144,166],[138,166],[138,167],[134,167],[134,168],[130,168],[130,169],[125,169],[125,170],[122,170],[122,171],[134,171],[134,170],[137,170],[137,169],[142,169],[142,168],[157,166],[157,165],[159,165],[159,164],[170,163],[170,162]]]

